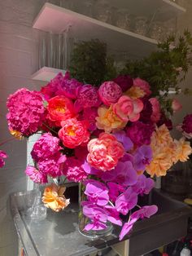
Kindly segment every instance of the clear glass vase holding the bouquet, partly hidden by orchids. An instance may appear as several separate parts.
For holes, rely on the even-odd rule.
[[[98,237],[101,236],[108,236],[111,234],[112,232],[112,224],[110,222],[107,222],[107,227],[103,230],[89,230],[86,231],[85,230],[85,226],[87,224],[89,224],[91,221],[89,218],[87,218],[84,214],[83,214],[83,209],[81,206],[81,202],[82,201],[86,201],[86,196],[85,196],[85,185],[83,185],[82,183],[79,183],[79,216],[78,216],[78,222],[79,222],[79,232],[81,233],[81,235],[83,236],[87,236],[89,239],[94,240]]]

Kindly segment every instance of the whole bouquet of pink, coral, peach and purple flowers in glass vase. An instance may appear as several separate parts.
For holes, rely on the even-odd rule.
[[[41,91],[25,88],[10,95],[7,121],[12,135],[41,132],[33,146],[34,166],[25,173],[34,183],[65,176],[81,183],[80,232],[87,236],[121,228],[120,240],[140,218],[150,218],[156,205],[138,205],[139,196],[154,187],[149,176],[165,175],[192,149],[184,138],[172,139],[170,121],[150,85],[128,75],[83,84],[59,73]],[[49,184],[46,207],[59,211],[69,205],[63,184]]]

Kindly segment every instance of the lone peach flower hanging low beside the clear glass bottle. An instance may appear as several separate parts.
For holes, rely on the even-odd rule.
[[[65,196],[63,196],[65,190],[66,188],[59,187],[55,185],[55,183],[46,187],[42,196],[42,201],[45,206],[57,212],[66,208],[69,205],[69,199],[66,199]]]

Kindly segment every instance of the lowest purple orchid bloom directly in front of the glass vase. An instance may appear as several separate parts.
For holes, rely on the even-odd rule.
[[[85,226],[85,230],[102,230],[107,227],[107,210],[97,206],[97,205],[85,205],[83,207],[83,214],[90,218],[91,223]]]

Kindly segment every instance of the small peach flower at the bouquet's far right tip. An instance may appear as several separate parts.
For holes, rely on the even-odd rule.
[[[190,142],[185,141],[185,138],[181,138],[180,140],[174,141],[177,145],[177,160],[178,161],[187,161],[189,159],[190,154],[192,153],[192,148],[190,147]]]

